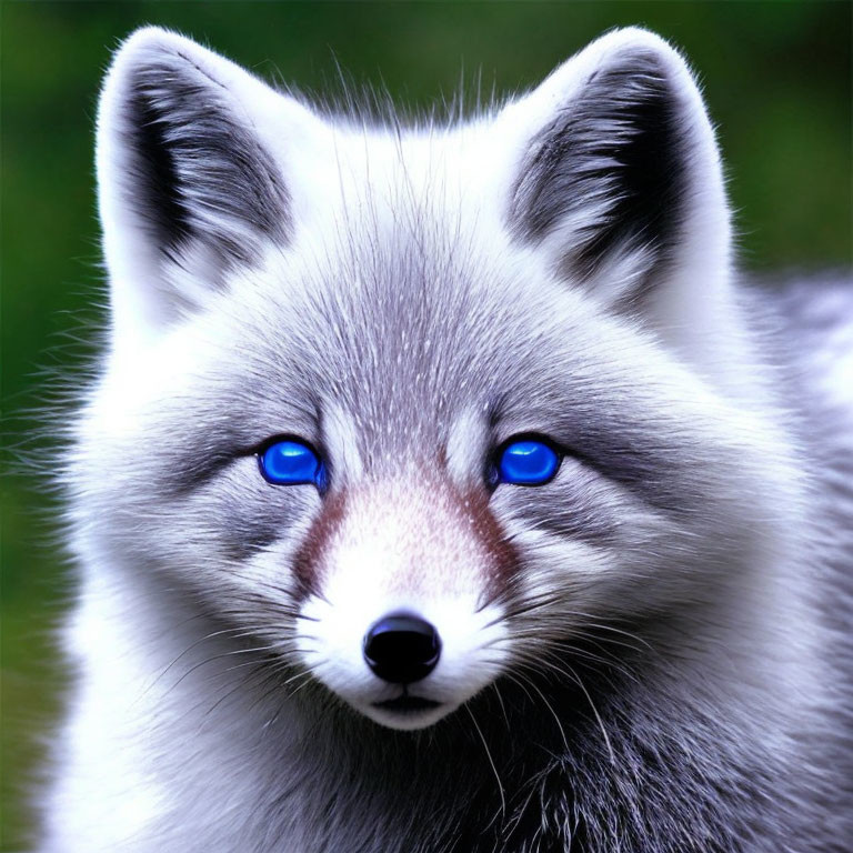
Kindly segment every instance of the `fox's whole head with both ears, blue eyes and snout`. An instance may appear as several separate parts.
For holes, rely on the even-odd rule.
[[[271,671],[424,727],[501,679],[575,678],[590,636],[713,600],[779,541],[717,148],[656,36],[405,126],[143,29],[97,170],[80,546]]]

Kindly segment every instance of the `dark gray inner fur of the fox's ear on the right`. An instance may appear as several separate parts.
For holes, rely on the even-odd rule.
[[[690,129],[666,69],[652,51],[625,51],[531,141],[513,187],[514,231],[536,241],[564,217],[600,203],[566,247],[565,271],[590,275],[625,243],[665,260],[692,190],[690,157]]]

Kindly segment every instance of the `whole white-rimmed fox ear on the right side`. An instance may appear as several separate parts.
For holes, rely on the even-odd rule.
[[[658,36],[604,36],[501,119],[524,129],[510,229],[559,274],[621,309],[674,269],[702,274],[706,257],[727,267],[713,130],[684,60]]]

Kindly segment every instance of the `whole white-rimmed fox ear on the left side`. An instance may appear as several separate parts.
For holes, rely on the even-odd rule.
[[[189,39],[134,32],[98,110],[98,198],[117,339],[159,332],[229,271],[285,245],[287,152],[308,110]]]

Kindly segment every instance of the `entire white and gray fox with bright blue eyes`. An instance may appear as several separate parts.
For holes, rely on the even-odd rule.
[[[737,287],[682,57],[333,114],[143,29],[98,116],[42,850],[851,850],[853,297]]]

